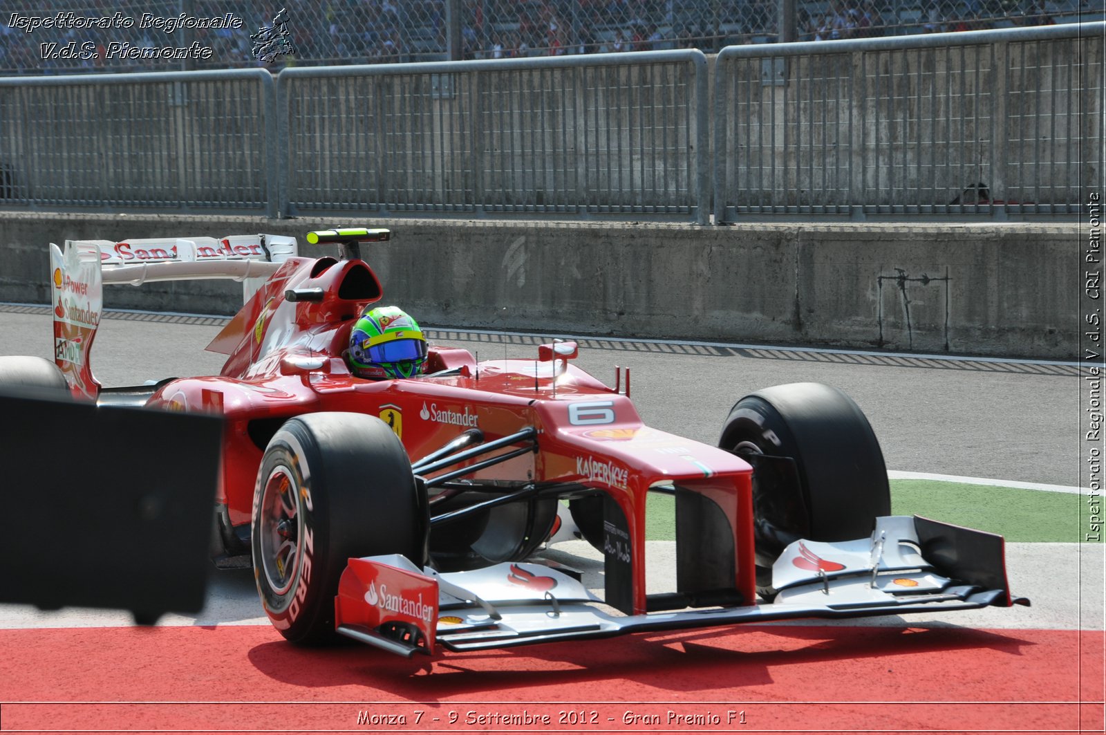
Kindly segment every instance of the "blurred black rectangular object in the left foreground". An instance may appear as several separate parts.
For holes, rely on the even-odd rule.
[[[204,607],[222,420],[0,386],[0,602]]]

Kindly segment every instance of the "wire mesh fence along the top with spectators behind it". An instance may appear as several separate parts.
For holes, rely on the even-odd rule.
[[[778,40],[785,4],[793,21],[783,40],[797,41],[1103,19],[1100,0],[72,0],[50,10],[40,0],[0,0],[0,74],[257,66],[265,65],[259,61],[265,50],[278,54],[273,69],[689,48],[710,53]],[[259,49],[259,32],[273,29],[282,9],[280,43]],[[31,28],[31,19],[56,21],[65,13],[72,17]],[[237,19],[232,27],[176,20],[228,14]],[[186,58],[163,51],[194,46],[199,51]]]

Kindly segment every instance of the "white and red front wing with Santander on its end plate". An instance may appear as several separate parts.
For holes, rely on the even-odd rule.
[[[865,539],[796,541],[784,550],[773,568],[779,594],[771,603],[639,615],[602,609],[596,605],[598,598],[580,581],[538,563],[502,563],[439,574],[432,569],[419,571],[397,556],[351,559],[342,578],[337,630],[410,655],[432,653],[436,643],[452,651],[470,651],[795,618],[898,615],[1029,604],[1027,600],[1011,598],[1006,588],[1002,537],[947,524],[938,524],[936,528],[933,524],[921,518],[888,516],[878,518],[873,535]],[[935,538],[938,540],[933,541]],[[945,558],[957,558],[957,548],[973,552],[990,549],[973,558],[967,576],[994,583],[980,586],[978,579],[966,580],[963,574],[947,576],[948,563],[926,558],[925,551],[930,546],[940,549]],[[387,607],[383,602],[383,584],[374,586],[372,581],[380,574],[390,574]],[[431,590],[437,592],[432,621],[425,617],[429,609],[425,601]],[[403,617],[405,610],[421,614]],[[397,620],[421,625],[417,644],[397,646],[394,640],[382,643],[388,640],[389,624]],[[371,634],[365,635],[364,631]]]

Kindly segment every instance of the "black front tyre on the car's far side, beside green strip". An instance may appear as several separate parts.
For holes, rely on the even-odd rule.
[[[792,383],[747,395],[718,445],[753,464],[757,589],[765,600],[775,597],[772,565],[789,544],[864,538],[876,517],[890,515],[879,442],[835,387]]]

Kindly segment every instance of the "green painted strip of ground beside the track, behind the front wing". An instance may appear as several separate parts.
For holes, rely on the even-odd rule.
[[[928,479],[894,479],[891,513],[925,516],[968,528],[1001,534],[1008,541],[1082,541],[1081,507],[1086,498],[1072,493],[1024,490]],[[646,538],[675,540],[676,500],[650,493]]]

